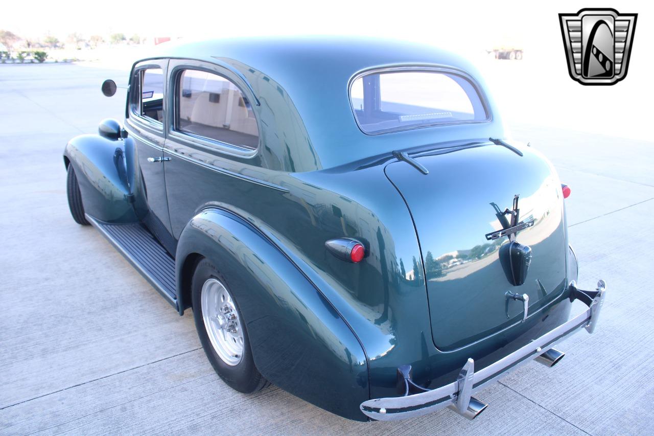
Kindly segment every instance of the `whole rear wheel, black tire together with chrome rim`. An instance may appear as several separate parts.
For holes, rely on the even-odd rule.
[[[193,317],[211,366],[234,390],[262,390],[267,380],[254,366],[245,321],[228,284],[207,259],[196,266],[192,280]]]

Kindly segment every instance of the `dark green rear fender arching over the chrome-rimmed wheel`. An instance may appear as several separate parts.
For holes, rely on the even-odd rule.
[[[188,263],[199,256],[230,287],[254,363],[269,381],[322,409],[366,420],[359,405],[370,398],[368,364],[358,338],[277,246],[241,217],[205,209],[186,225],[177,245],[181,310],[190,301]]]

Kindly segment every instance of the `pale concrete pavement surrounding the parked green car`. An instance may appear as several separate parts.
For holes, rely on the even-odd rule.
[[[179,317],[91,227],[70,216],[66,141],[124,117],[124,71],[0,66],[0,433],[633,434],[654,422],[654,143],[513,126],[572,187],[570,241],[582,287],[609,285],[595,335],[559,347],[478,397],[468,422],[447,410],[398,423],[344,420],[271,387],[230,390]],[[581,310],[581,307],[577,307]],[[574,309],[575,311],[575,309]]]

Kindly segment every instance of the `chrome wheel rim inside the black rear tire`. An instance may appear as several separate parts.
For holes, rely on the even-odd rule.
[[[241,319],[227,288],[215,278],[202,285],[202,319],[213,349],[224,363],[235,366],[243,359]]]

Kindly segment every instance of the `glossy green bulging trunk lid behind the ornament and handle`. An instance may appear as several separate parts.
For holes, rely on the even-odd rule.
[[[566,229],[559,178],[543,156],[525,147],[523,156],[494,144],[441,149],[413,156],[428,170],[392,162],[385,172],[415,224],[425,275],[432,338],[439,350],[461,348],[523,319],[523,303],[506,293],[529,296],[528,316],[538,316],[566,287]],[[509,282],[500,247],[506,236],[486,235],[506,227],[500,215],[519,194],[519,222],[531,227],[515,234],[532,258],[525,283]],[[511,216],[506,215],[508,222]],[[504,266],[503,266],[504,264]]]

